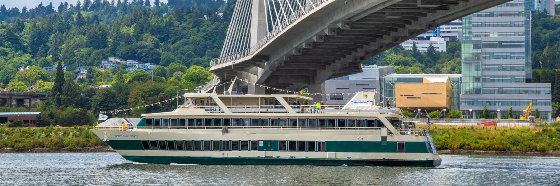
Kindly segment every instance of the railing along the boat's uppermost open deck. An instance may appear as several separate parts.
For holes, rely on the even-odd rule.
[[[228,104],[226,105],[233,113],[288,113],[283,106],[277,105],[249,105],[249,104]],[[390,106],[372,106],[371,109],[344,109],[344,106],[321,106],[314,108],[309,105],[291,106],[296,113],[380,113],[400,115],[400,109]],[[179,109],[204,109],[210,113],[222,113],[223,110],[217,104],[193,104],[181,105]]]

